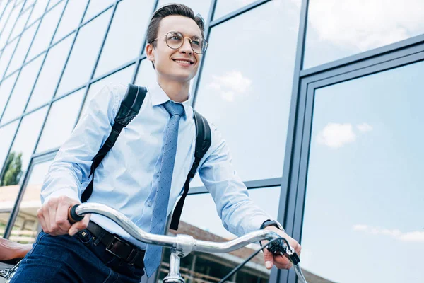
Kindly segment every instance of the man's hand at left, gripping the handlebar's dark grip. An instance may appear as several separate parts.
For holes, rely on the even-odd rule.
[[[52,197],[37,210],[37,218],[42,230],[52,236],[68,234],[73,236],[78,231],[87,228],[91,214],[86,214],[84,219],[74,224],[68,221],[68,210],[75,204],[81,204],[70,197]]]

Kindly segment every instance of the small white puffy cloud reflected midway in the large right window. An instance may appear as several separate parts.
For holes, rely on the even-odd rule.
[[[338,148],[353,141],[355,141],[355,133],[349,123],[328,123],[317,136],[318,144],[332,148]]]

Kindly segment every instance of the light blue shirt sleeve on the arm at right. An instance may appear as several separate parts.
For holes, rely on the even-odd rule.
[[[199,165],[199,175],[213,197],[223,226],[237,236],[259,230],[264,221],[273,218],[250,199],[232,165],[228,146],[213,124],[211,134],[211,147]]]

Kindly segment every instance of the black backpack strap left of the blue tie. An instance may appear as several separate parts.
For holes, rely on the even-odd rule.
[[[114,125],[112,126],[112,131],[107,137],[105,144],[103,144],[102,148],[99,150],[98,154],[96,154],[93,158],[93,163],[91,163],[90,168],[90,177],[93,175],[93,179],[91,179],[90,184],[84,190],[83,195],[81,195],[81,202],[87,202],[93,193],[93,181],[94,181],[94,171],[102,162],[103,158],[105,158],[107,152],[112,149],[114,143],[117,141],[119,134],[122,129],[126,127],[131,120],[136,117],[139,113],[141,105],[143,104],[143,100],[146,97],[147,88],[142,86],[135,86],[134,84],[129,83],[128,88],[126,88],[126,93],[124,99],[122,100],[121,106],[117,112],[116,117],[114,118]]]

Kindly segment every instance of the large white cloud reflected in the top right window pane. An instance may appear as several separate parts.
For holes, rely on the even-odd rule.
[[[423,0],[314,0],[308,20],[319,40],[360,51],[418,35],[424,30]]]

